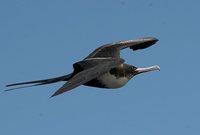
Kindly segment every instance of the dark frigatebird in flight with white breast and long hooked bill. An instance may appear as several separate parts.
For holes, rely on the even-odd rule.
[[[120,51],[130,48],[133,51],[150,47],[158,41],[156,38],[141,38],[126,40],[103,45],[82,61],[73,64],[74,71],[71,74],[29,82],[21,82],[6,85],[11,87],[5,91],[46,85],[60,81],[67,81],[51,97],[70,91],[80,85],[99,87],[99,88],[120,88],[124,86],[135,75],[160,70],[159,66],[138,68],[125,63],[120,58]],[[18,86],[14,87],[13,86]]]

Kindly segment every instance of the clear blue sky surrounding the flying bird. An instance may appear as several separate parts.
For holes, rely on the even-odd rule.
[[[199,0],[1,0],[1,135],[200,135]],[[63,82],[4,92],[9,83],[70,73],[100,45],[141,37],[126,63],[159,65],[116,90]]]

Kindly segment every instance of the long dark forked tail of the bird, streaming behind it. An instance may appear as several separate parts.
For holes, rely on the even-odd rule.
[[[45,84],[50,84],[50,83],[56,83],[59,81],[68,81],[71,77],[72,77],[72,74],[68,74],[68,75],[50,78],[50,79],[8,84],[8,85],[6,85],[6,87],[12,87],[12,86],[19,86],[19,87],[9,88],[9,89],[6,89],[5,91],[33,87],[33,86],[38,86],[38,85],[45,85]],[[30,84],[30,85],[28,85],[28,84]],[[24,85],[24,86],[20,86],[20,85]]]

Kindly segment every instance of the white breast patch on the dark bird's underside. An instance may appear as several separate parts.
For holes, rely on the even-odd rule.
[[[114,74],[105,73],[97,78],[106,88],[119,88],[128,82],[126,77],[116,77]]]

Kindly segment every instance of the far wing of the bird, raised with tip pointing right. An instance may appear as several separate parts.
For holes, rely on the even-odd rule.
[[[135,39],[135,40],[126,40],[126,41],[120,41],[115,42],[111,44],[103,45],[99,48],[97,48],[94,52],[92,52],[90,55],[88,55],[85,59],[89,58],[102,58],[102,57],[114,57],[119,58],[120,57],[120,50],[125,48],[130,48],[133,51],[138,49],[144,49],[147,48],[153,44],[155,44],[158,41],[156,38],[142,38],[142,39]]]

